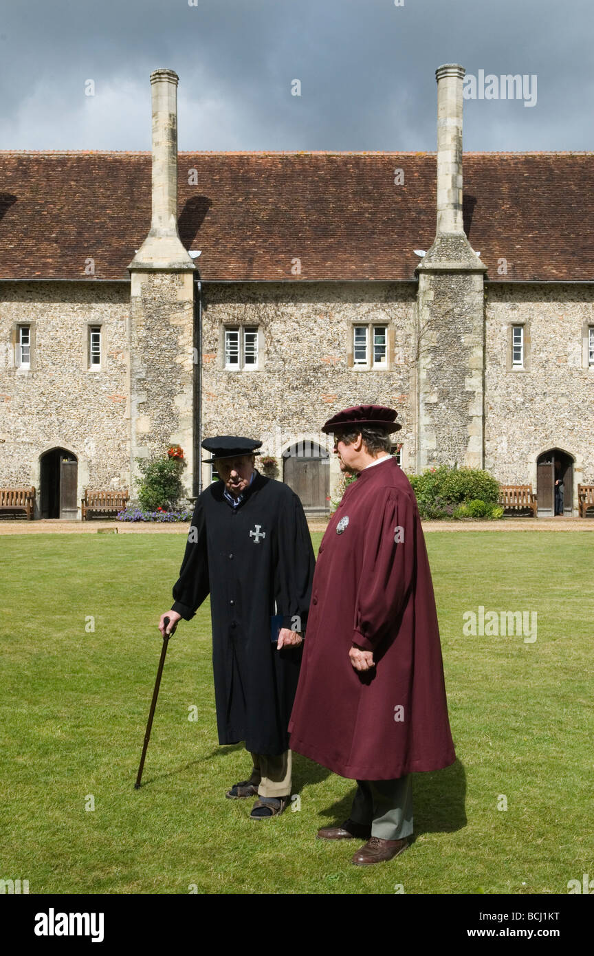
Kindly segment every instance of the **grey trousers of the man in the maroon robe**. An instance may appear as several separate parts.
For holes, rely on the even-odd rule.
[[[403,839],[413,834],[411,774],[396,780],[357,780],[350,819],[371,825],[371,836]]]

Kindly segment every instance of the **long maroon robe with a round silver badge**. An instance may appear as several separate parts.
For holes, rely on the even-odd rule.
[[[304,643],[291,750],[355,780],[454,763],[425,539],[393,459],[361,471],[330,519]],[[374,668],[353,668],[353,643]]]

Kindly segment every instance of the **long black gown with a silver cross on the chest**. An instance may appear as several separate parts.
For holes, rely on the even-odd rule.
[[[302,647],[277,650],[271,617],[306,627],[315,564],[308,523],[297,495],[258,471],[237,508],[223,490],[219,481],[196,502],[172,610],[189,620],[210,593],[219,743],[279,754],[288,749]]]

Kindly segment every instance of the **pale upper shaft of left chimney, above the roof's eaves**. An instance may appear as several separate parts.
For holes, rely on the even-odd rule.
[[[151,74],[153,170],[151,229],[128,269],[194,269],[178,232],[178,82],[173,70]]]

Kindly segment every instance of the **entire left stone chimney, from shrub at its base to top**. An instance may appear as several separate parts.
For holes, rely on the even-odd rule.
[[[194,485],[195,265],[178,232],[178,75],[151,74],[153,92],[153,214],[130,271],[130,484],[137,458],[164,457],[180,445],[182,482]]]

